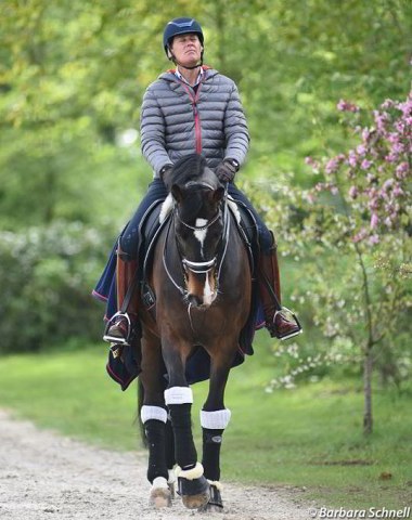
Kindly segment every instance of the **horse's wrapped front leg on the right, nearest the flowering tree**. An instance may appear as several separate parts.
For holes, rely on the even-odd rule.
[[[223,503],[221,499],[220,483],[220,448],[224,429],[229,425],[231,412],[224,407],[224,389],[232,366],[232,361],[237,348],[228,342],[215,346],[209,351],[211,359],[209,393],[201,411],[201,425],[203,432],[203,458],[205,477],[210,484],[209,503],[205,510],[221,511]]]

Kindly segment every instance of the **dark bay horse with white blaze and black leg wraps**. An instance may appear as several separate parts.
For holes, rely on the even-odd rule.
[[[177,464],[183,504],[221,508],[220,446],[231,416],[224,389],[250,311],[249,260],[226,190],[201,156],[181,159],[165,183],[172,214],[159,234],[149,275],[155,321],[147,311],[141,313],[140,417],[149,445],[151,500],[156,507],[171,504]],[[188,360],[199,348],[210,356],[209,392],[201,412],[202,463],[185,375]]]

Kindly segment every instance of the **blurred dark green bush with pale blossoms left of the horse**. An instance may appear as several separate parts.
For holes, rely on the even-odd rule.
[[[102,231],[56,221],[0,234],[0,352],[36,351],[72,335],[96,338],[102,309],[91,290],[110,243]]]

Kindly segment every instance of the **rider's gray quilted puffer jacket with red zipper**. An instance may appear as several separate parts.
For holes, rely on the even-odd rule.
[[[171,72],[149,86],[141,110],[142,154],[154,177],[167,164],[194,152],[210,168],[223,158],[245,160],[249,134],[234,81],[204,68],[196,93]]]

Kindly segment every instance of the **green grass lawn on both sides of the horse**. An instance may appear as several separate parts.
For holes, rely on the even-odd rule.
[[[230,376],[223,480],[306,487],[304,498],[336,508],[410,505],[411,388],[374,392],[375,428],[365,439],[360,381],[323,380],[268,394],[275,360],[261,344],[256,350]],[[104,347],[1,358],[0,406],[91,443],[140,448],[134,387],[121,392],[106,376],[105,361]],[[198,443],[207,384],[193,389]]]

